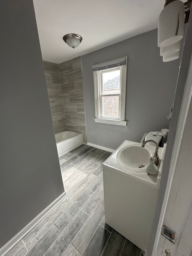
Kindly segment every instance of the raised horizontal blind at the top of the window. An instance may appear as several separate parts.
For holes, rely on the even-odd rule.
[[[126,57],[123,57],[120,59],[115,59],[112,61],[103,62],[100,64],[93,65],[92,69],[93,69],[93,72],[97,72],[97,71],[102,71],[102,70],[106,70],[109,68],[117,68],[117,67],[121,67],[121,66],[125,66],[125,65],[126,65]]]

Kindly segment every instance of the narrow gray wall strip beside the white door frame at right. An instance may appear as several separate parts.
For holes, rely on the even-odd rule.
[[[192,54],[192,47],[191,47],[192,14],[191,13],[189,17],[189,22],[185,24],[185,29],[187,31],[186,31],[186,36],[184,40],[183,52],[180,50],[180,52],[182,53],[182,60],[181,60],[181,65],[179,70],[177,89],[176,89],[175,98],[174,98],[173,113],[172,113],[172,118],[170,122],[169,134],[167,137],[167,148],[165,152],[164,165],[163,165],[161,183],[160,183],[158,199],[157,199],[157,204],[155,209],[155,215],[154,215],[154,220],[152,224],[152,232],[149,239],[149,247],[148,247],[148,253],[147,253],[147,255],[149,256],[153,256],[152,250],[153,250],[153,245],[155,241],[155,235],[158,228],[159,217],[161,214],[161,207],[164,200],[164,194],[165,194],[167,179],[169,175],[170,161],[171,161],[171,156],[172,156],[175,137],[176,137],[179,113],[180,113],[180,108],[182,104],[183,93],[184,93],[185,83],[187,79],[187,74],[188,74],[190,59]]]

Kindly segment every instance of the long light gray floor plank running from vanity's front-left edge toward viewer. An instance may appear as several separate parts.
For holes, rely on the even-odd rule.
[[[95,211],[91,214],[88,220],[85,222],[79,233],[76,235],[72,242],[72,245],[82,254],[85,251],[92,236],[97,230],[99,224],[104,217],[104,199],[97,205]]]

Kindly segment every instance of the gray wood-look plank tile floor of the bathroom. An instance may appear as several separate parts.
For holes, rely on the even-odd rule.
[[[82,144],[59,158],[59,203],[6,256],[144,256],[105,223],[102,163],[110,152]]]

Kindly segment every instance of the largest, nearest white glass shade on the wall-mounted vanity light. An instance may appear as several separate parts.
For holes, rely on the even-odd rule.
[[[183,38],[185,5],[175,0],[164,7],[158,20],[158,47],[175,44]]]

